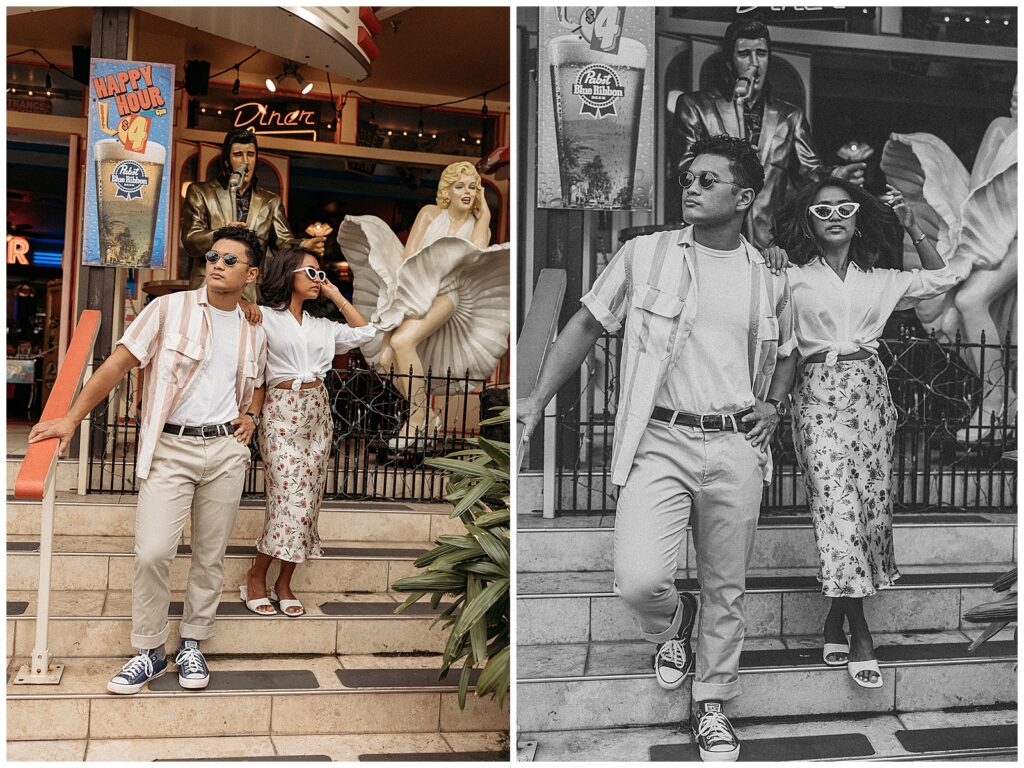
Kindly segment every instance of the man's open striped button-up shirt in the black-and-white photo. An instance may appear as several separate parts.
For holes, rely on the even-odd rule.
[[[758,250],[740,241],[751,263],[751,311],[746,338],[736,342],[746,348],[751,388],[763,400],[776,358],[796,347],[793,307],[785,275],[771,274]],[[611,456],[611,481],[616,485],[626,483],[670,364],[693,330],[696,292],[729,291],[729,286],[700,286],[693,258],[692,226],[635,238],[581,299],[608,333],[625,327]],[[765,481],[770,478],[769,456]]]

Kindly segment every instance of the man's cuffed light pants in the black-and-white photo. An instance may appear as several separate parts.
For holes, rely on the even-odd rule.
[[[679,631],[676,564],[692,517],[700,583],[695,701],[739,694],[746,563],[767,460],[742,433],[651,421],[618,495],[615,592],[650,642]]]

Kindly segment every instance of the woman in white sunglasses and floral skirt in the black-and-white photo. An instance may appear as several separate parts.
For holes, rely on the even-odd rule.
[[[822,657],[829,666],[847,665],[865,688],[883,682],[863,599],[900,575],[892,535],[896,411],[879,338],[895,309],[937,296],[964,278],[945,265],[899,190],[888,189],[887,207],[840,179],[812,183],[782,213],[775,232],[776,244],[799,266],[787,272],[799,350],[793,433],[821,591],[833,598]],[[924,269],[876,266],[899,253],[901,226]]]

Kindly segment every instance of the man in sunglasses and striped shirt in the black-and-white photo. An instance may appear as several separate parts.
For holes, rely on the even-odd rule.
[[[776,370],[775,360],[796,341],[785,278],[770,274],[740,236],[764,183],[757,156],[730,136],[698,141],[694,154],[681,178],[690,225],[618,251],[559,334],[518,418],[532,431],[598,337],[625,329],[611,459],[621,486],[615,592],[657,643],[658,684],[679,688],[693,664],[696,606],[677,592],[675,571],[692,513],[700,626],[690,725],[701,758],[735,760],[724,703],[739,693],[746,563],[778,398],[793,375],[792,362]]]

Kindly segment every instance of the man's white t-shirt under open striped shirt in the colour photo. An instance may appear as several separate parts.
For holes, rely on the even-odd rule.
[[[204,427],[227,424],[239,415],[234,385],[239,368],[239,334],[246,321],[241,309],[225,312],[212,304],[209,308],[213,324],[213,348],[200,366],[187,396],[167,418],[168,424]]]

